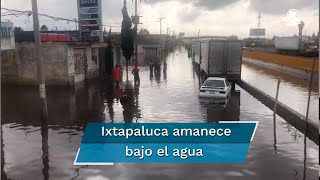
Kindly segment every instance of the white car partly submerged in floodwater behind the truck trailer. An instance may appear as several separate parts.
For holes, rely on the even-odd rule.
[[[204,98],[229,98],[231,83],[226,78],[209,77],[200,88],[199,97]]]

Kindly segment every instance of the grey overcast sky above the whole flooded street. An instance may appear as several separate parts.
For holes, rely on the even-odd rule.
[[[64,18],[77,18],[76,0],[38,0],[39,12]],[[120,31],[123,0],[102,0],[103,24],[113,25],[112,31]],[[1,7],[31,10],[31,0],[1,0]],[[134,13],[132,0],[127,1],[129,15]],[[197,35],[237,35],[249,36],[250,28],[257,28],[258,12],[261,12],[261,28],[266,28],[267,37],[273,35],[290,36],[298,34],[297,25],[290,24],[286,14],[296,9],[304,21],[303,34],[311,35],[319,31],[319,0],[138,0],[138,13],[142,17],[139,28],[151,33],[160,32],[159,17],[165,17],[162,33],[167,27],[176,33],[185,32],[186,36]],[[15,26],[25,30],[32,29],[32,17],[1,17],[11,20]],[[56,22],[40,17],[40,25],[49,29],[75,29],[74,23]],[[109,27],[106,26],[108,30]]]

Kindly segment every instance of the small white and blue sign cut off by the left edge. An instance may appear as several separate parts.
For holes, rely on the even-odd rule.
[[[1,50],[15,49],[15,40],[12,22],[1,22],[0,29]]]

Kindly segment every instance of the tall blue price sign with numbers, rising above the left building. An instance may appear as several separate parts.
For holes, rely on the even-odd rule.
[[[81,39],[88,39],[92,31],[101,28],[101,3],[99,0],[78,0],[79,30]]]

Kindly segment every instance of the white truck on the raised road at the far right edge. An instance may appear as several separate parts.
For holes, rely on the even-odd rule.
[[[275,37],[275,49],[280,54],[294,53],[301,56],[317,56],[315,42],[305,42],[299,36]]]

